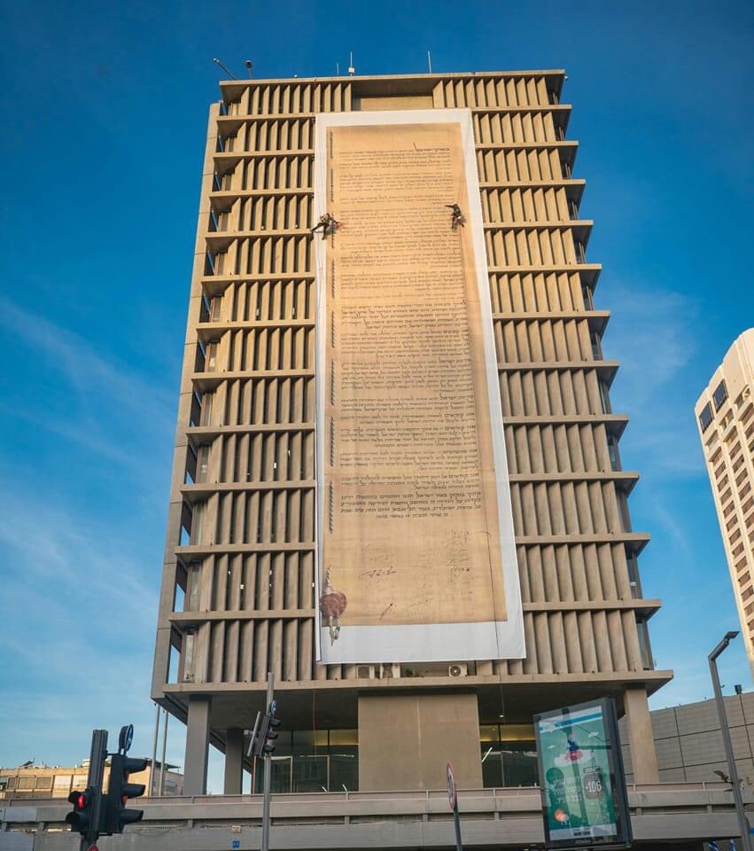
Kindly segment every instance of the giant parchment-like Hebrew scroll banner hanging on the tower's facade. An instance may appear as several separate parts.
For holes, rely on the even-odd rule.
[[[318,658],[521,658],[470,110],[315,138]]]

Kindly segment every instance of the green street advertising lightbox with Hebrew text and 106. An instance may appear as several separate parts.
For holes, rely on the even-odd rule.
[[[631,816],[611,699],[534,716],[548,848],[627,847]]]

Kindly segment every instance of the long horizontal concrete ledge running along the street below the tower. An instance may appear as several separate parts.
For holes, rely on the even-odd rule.
[[[657,784],[631,786],[634,839],[698,840],[735,835],[735,811],[727,785]],[[76,847],[60,830],[69,805],[39,800],[0,808],[5,831],[0,851]],[[459,793],[466,847],[501,847],[542,842],[540,791],[463,790]],[[654,812],[653,812],[654,810]],[[713,811],[714,810],[714,811]],[[299,848],[452,847],[452,816],[445,791],[348,792],[274,795],[271,846]],[[259,795],[203,796],[144,800],[144,822],[107,840],[115,849],[214,851],[260,847]],[[31,844],[29,844],[31,843]]]

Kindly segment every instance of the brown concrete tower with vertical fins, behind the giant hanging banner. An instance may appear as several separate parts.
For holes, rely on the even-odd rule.
[[[601,266],[587,261],[592,223],[579,215],[585,181],[574,176],[563,82],[563,71],[532,71],[221,83],[152,683],[153,699],[188,725],[186,793],[205,789],[209,744],[225,753],[226,792],[240,791],[243,731],[268,671],[284,718],[277,791],[438,788],[448,757],[463,786],[532,784],[532,714],[604,695],[626,716],[634,777],[657,778],[647,698],[671,672],[656,670],[649,646],[660,602],[641,592],[649,535],[629,519],[638,474],[620,464],[627,417],[610,404],[618,363],[602,355],[609,313],[595,308]],[[394,124],[401,110],[416,121],[450,109],[473,128],[525,657],[464,658],[459,647],[441,663],[396,653],[323,665],[317,116],[381,111]],[[339,629],[330,621],[323,640]]]

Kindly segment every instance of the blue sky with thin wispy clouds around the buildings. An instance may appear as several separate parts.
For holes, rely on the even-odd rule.
[[[492,23],[490,23],[492,21]],[[206,107],[238,75],[564,67],[660,668],[711,694],[735,605],[693,405],[754,324],[748,3],[3,4],[0,764],[136,724],[149,678]],[[750,688],[740,642],[727,690]],[[169,756],[183,762],[177,722]],[[214,760],[213,784],[217,784]]]

